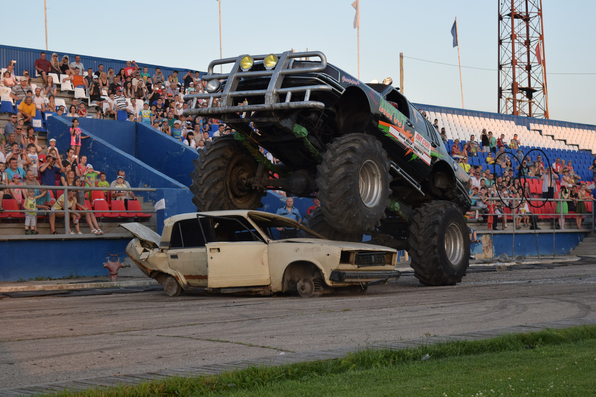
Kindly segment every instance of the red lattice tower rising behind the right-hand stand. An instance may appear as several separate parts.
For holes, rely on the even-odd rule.
[[[498,0],[497,111],[548,117],[542,0]]]

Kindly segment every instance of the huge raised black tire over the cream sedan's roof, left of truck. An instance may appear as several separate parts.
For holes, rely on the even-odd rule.
[[[193,160],[190,173],[197,211],[256,210],[262,207],[266,192],[253,189],[257,162],[242,142],[234,136],[217,137],[207,142],[204,151]]]

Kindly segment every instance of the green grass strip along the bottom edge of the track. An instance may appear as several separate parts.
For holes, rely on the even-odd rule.
[[[596,326],[582,326],[58,395],[581,396],[595,379]]]

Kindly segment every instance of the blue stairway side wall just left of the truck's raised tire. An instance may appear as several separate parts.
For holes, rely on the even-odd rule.
[[[127,123],[123,121],[123,123]],[[173,137],[143,123],[136,126],[136,158],[184,186],[193,184],[190,173],[198,152]]]

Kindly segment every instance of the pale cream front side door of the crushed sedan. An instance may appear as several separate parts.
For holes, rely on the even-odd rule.
[[[271,284],[268,245],[245,218],[212,217],[210,224],[212,236],[206,244],[208,287]]]

